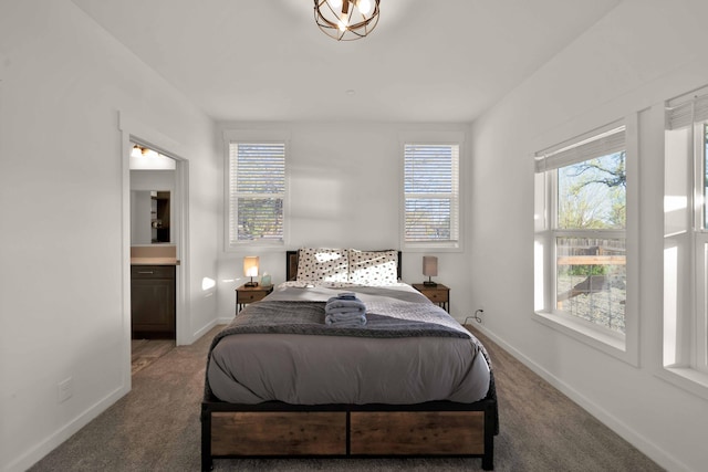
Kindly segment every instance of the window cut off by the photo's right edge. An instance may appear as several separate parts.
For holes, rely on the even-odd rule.
[[[708,87],[667,103],[664,367],[708,398]]]

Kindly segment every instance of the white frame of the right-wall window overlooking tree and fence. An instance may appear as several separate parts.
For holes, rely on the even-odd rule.
[[[553,169],[534,169],[534,312],[532,318],[576,340],[602,350],[627,364],[638,365],[638,138],[636,114],[581,134],[554,146],[549,146],[533,156],[550,154],[556,149],[573,147],[606,132],[624,126],[624,150],[626,172],[626,223],[624,230],[559,229],[558,171],[565,165],[581,162],[563,161]],[[587,157],[590,159],[591,157]],[[556,300],[556,237],[592,237],[597,239],[624,238],[626,247],[626,303],[625,334],[555,310]]]

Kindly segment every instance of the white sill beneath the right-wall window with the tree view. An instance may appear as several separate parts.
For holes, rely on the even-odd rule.
[[[632,366],[639,365],[637,353],[628,352],[626,342],[620,337],[594,329],[585,323],[548,312],[535,312],[533,319]]]

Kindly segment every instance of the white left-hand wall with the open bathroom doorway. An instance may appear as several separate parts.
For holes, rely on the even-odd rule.
[[[129,388],[118,112],[189,159],[191,333],[216,315],[219,164],[212,123],[67,0],[0,3],[0,469],[19,471]]]

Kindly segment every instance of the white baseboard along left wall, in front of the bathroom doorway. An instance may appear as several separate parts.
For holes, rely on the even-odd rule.
[[[56,447],[75,434],[80,429],[93,421],[98,415],[107,410],[108,407],[123,398],[128,391],[131,391],[131,389],[127,386],[121,386],[119,388],[113,390],[111,394],[101,399],[98,402],[94,403],[88,409],[84,410],[84,412],[79,415],[69,423],[50,434],[39,444],[34,445],[29,451],[11,461],[3,470],[3,472],[27,471],[46,454],[52,452]]]

